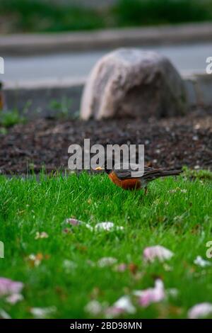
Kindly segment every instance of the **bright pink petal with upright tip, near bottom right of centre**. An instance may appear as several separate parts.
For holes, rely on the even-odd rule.
[[[163,281],[156,280],[154,288],[148,288],[146,290],[135,290],[134,295],[139,298],[139,304],[142,307],[148,307],[151,303],[158,303],[165,298],[165,290]]]

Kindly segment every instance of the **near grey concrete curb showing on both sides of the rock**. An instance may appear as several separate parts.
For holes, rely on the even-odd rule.
[[[190,107],[212,107],[212,74],[184,74]],[[86,79],[25,82],[4,87],[6,108],[17,108],[28,119],[76,113]]]

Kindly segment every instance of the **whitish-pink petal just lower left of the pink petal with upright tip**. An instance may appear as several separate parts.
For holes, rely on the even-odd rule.
[[[136,307],[131,303],[131,299],[128,295],[124,295],[117,300],[111,307],[108,307],[105,311],[107,317],[116,317],[123,313],[129,313],[133,315],[136,312]]]

